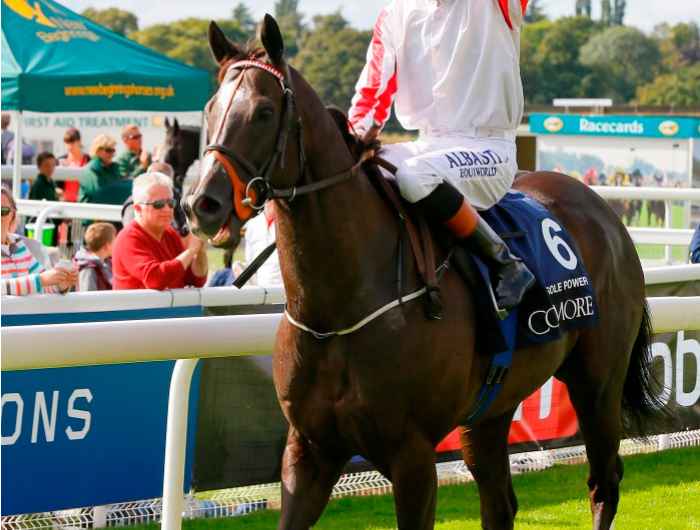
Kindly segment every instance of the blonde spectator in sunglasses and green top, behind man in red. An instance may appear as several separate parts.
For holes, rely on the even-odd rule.
[[[92,160],[83,170],[80,183],[80,202],[122,204],[129,196],[131,181],[122,178],[114,162],[117,142],[106,134],[100,134],[92,142]]]

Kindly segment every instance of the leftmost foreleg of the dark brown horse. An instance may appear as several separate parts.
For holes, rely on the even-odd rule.
[[[290,427],[282,458],[280,530],[308,530],[318,521],[346,461],[324,454]]]

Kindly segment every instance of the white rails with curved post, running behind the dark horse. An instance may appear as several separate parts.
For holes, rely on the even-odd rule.
[[[700,279],[700,266],[668,267],[645,271],[648,283],[665,283]],[[235,296],[233,293],[238,293]],[[89,293],[93,294],[93,293]],[[205,305],[233,305],[252,303],[279,303],[280,290],[251,289],[189,289],[177,293],[111,293],[107,295],[53,297],[52,305],[65,305],[76,311],[95,310],[95,306],[114,309],[115,303],[131,295],[144,297],[185,297]],[[42,297],[49,299],[50,297]],[[84,300],[83,307],[75,302]],[[9,301],[9,300],[8,300]],[[143,300],[142,300],[143,301]],[[676,330],[700,330],[700,297],[649,298],[652,324],[656,333]],[[106,304],[106,305],[105,305]],[[4,302],[4,311],[7,303]],[[30,298],[15,299],[9,304],[10,313],[45,313],[46,306],[38,306]],[[79,304],[80,305],[80,304]],[[30,306],[32,306],[30,308]],[[30,310],[31,309],[31,310]],[[54,307],[54,310],[58,309]],[[183,511],[182,495],[185,465],[187,426],[186,406],[192,373],[198,359],[223,356],[264,355],[273,348],[274,335],[280,314],[240,315],[220,317],[180,318],[177,326],[168,320],[137,320],[81,324],[56,324],[4,328],[2,331],[2,370],[28,370],[65,366],[87,366],[135,361],[178,359],[173,371],[166,433],[166,455],[163,479],[162,528],[179,530]],[[148,341],[143,340],[144,336]],[[99,358],[95,356],[94,337],[100,337]],[[236,338],[235,345],[231,337]],[[163,352],[162,344],[168,344]],[[235,349],[234,352],[231,350]]]

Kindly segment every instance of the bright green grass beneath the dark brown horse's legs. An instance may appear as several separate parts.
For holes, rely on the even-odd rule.
[[[700,529],[700,447],[625,457],[617,530]],[[590,528],[587,466],[559,465],[513,478],[520,510],[518,529]],[[194,519],[184,530],[275,528],[279,512],[226,519]],[[395,528],[393,499],[346,497],[331,501],[315,529],[388,530]],[[479,501],[474,483],[444,486],[438,492],[438,530],[478,530]],[[156,525],[148,527],[156,530]]]

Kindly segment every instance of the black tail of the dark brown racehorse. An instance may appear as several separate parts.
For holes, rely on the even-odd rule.
[[[659,384],[652,372],[651,317],[644,301],[642,322],[634,341],[622,393],[622,409],[630,434],[644,436],[652,420],[663,416],[664,404],[658,397]]]

